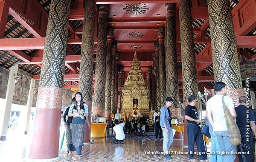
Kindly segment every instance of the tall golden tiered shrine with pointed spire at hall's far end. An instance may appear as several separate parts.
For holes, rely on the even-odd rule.
[[[144,81],[136,51],[131,62],[129,74],[122,87],[122,110],[125,113],[149,115],[148,86]]]

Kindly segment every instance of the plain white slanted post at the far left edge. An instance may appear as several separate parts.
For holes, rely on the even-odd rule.
[[[0,109],[0,140],[6,140],[6,133],[8,130],[12,99],[15,88],[15,75],[17,75],[18,67],[18,65],[14,65],[9,68],[9,79],[6,89],[6,98],[5,102],[3,103],[3,107]]]

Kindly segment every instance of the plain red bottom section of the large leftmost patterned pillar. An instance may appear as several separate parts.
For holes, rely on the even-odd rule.
[[[58,157],[60,122],[60,108],[37,108],[29,158],[52,159]]]

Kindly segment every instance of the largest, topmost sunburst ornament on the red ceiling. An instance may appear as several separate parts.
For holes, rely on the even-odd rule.
[[[125,10],[126,14],[134,14],[137,16],[138,14],[145,14],[146,10],[149,10],[147,8],[146,3],[132,3],[132,4],[125,4]]]

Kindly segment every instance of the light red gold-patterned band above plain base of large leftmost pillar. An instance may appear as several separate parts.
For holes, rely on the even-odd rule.
[[[63,89],[58,87],[39,87],[36,108],[61,108]]]

